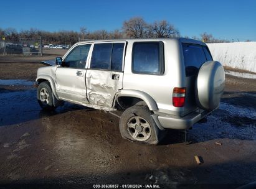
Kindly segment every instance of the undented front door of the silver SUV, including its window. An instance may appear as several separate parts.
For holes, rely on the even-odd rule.
[[[56,70],[56,92],[60,99],[88,103],[85,85],[86,64],[91,44],[73,47]]]

